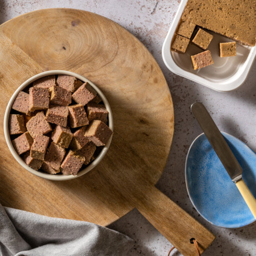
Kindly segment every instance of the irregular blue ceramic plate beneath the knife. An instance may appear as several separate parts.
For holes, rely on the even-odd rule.
[[[244,142],[221,132],[243,168],[243,179],[256,197],[256,154]],[[239,228],[255,219],[204,134],[191,144],[186,157],[186,188],[203,218],[223,228]]]

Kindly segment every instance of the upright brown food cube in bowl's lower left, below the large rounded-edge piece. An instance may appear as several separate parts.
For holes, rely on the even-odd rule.
[[[45,159],[45,153],[50,138],[44,135],[37,135],[30,150],[30,156],[35,159]]]

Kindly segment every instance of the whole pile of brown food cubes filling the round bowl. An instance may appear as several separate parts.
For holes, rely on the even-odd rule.
[[[108,114],[90,83],[67,75],[46,76],[18,93],[9,135],[32,169],[76,175],[109,141]]]

